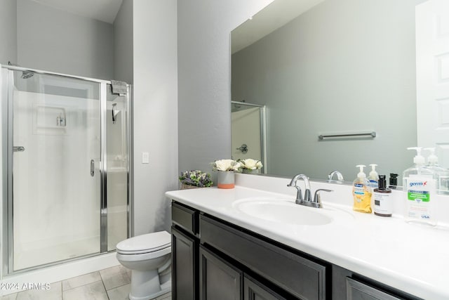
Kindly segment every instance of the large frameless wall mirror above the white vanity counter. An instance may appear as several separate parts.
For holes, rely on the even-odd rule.
[[[427,6],[424,17],[418,12],[432,1],[440,0],[275,0],[232,31],[232,101],[267,107],[267,174],[327,180],[338,170],[352,181],[357,164],[377,164],[387,178],[399,174],[400,184],[415,155],[406,148],[416,145],[437,145],[440,163],[448,164],[449,132],[439,142],[427,138],[434,131],[420,122],[417,103],[420,78],[434,76],[420,73],[422,60],[434,58],[417,59],[429,52],[420,44],[429,44],[422,41],[432,35],[432,18],[449,37],[447,16],[434,10],[428,18]],[[272,21],[278,24],[260,30]],[[449,91],[449,54],[438,57],[432,67]],[[447,102],[439,105],[449,115]],[[435,109],[426,113],[440,114],[427,115],[436,126],[449,125]]]

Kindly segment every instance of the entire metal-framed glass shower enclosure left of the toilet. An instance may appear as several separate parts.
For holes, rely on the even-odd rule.
[[[3,274],[129,236],[130,86],[1,67]]]

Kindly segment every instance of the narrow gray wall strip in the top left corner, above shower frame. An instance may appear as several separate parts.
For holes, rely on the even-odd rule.
[[[17,5],[15,0],[0,1],[0,64],[17,63]]]

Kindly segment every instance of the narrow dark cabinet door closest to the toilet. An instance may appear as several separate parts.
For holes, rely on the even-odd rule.
[[[173,299],[196,300],[198,297],[198,244],[194,237],[175,227],[172,233],[172,294]]]

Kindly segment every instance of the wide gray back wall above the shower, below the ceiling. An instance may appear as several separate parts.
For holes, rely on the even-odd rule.
[[[114,28],[30,0],[17,1],[18,65],[85,77],[114,76]]]

